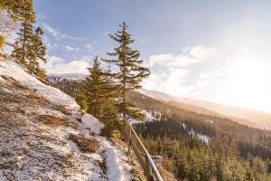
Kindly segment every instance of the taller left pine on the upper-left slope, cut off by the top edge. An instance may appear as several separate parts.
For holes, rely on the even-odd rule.
[[[24,2],[17,10],[19,20],[22,22],[19,37],[14,43],[13,57],[22,65],[27,66],[26,59],[31,57],[31,45],[33,38],[33,23],[35,22],[35,14],[33,12],[32,0]]]

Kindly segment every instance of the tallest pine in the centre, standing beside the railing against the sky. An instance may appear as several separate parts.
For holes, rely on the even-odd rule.
[[[128,91],[141,88],[141,81],[147,78],[150,74],[149,69],[143,66],[143,60],[140,60],[140,53],[132,50],[130,44],[134,43],[130,33],[127,32],[126,23],[119,25],[121,30],[110,35],[110,38],[116,41],[119,45],[114,49],[114,52],[107,52],[107,55],[112,57],[104,62],[112,63],[117,66],[118,72],[113,73],[117,81],[117,90],[119,102],[117,111],[122,114],[123,119],[144,119],[144,115],[140,114],[135,105],[126,101]],[[128,116],[128,118],[126,118]]]

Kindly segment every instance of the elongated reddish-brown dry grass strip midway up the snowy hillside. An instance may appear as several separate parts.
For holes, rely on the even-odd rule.
[[[42,122],[45,125],[51,126],[51,127],[72,127],[76,128],[77,124],[74,122],[71,122],[68,119],[61,119],[56,116],[52,115],[41,115],[38,117],[38,120]]]

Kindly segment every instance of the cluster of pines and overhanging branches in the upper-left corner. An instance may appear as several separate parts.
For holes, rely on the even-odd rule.
[[[6,11],[14,22],[21,24],[14,43],[12,56],[28,71],[46,79],[40,62],[46,63],[46,47],[42,43],[42,28],[33,28],[35,12],[33,0],[0,0],[0,11]],[[0,48],[5,44],[5,37],[0,35]]]

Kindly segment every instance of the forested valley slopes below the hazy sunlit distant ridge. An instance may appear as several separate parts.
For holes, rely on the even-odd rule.
[[[80,82],[62,78],[51,84],[74,96]],[[134,124],[134,128],[150,153],[163,157],[163,167],[178,180],[271,179],[271,131],[184,110],[137,91],[130,91],[127,100],[153,112],[154,118],[159,113],[154,121]]]

